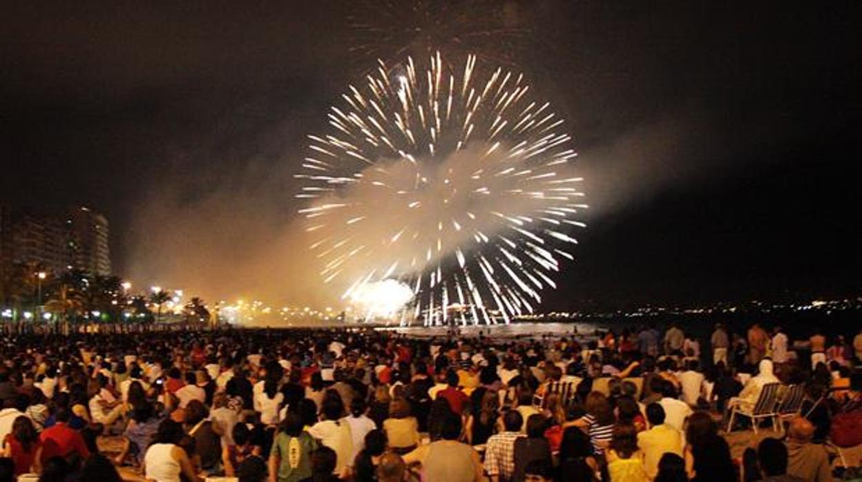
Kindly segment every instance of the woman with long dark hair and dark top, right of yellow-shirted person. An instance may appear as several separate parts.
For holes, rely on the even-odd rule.
[[[685,471],[692,482],[728,482],[736,479],[730,447],[709,413],[698,411],[685,428]]]

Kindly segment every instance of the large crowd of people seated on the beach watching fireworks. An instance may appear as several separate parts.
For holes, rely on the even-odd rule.
[[[0,482],[822,482],[835,416],[862,411],[859,360],[862,331],[791,343],[758,324],[704,340],[679,326],[9,335]],[[726,414],[777,382],[806,387],[803,410],[734,458]]]

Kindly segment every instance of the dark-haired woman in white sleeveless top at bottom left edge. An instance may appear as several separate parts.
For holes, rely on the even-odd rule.
[[[144,456],[144,474],[155,482],[180,482],[180,473],[186,480],[203,482],[191,466],[188,454],[179,447],[183,439],[183,426],[170,418],[159,424],[153,444]]]

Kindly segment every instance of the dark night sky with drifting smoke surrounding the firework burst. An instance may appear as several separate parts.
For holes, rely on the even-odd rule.
[[[858,292],[859,3],[474,1],[453,22],[481,31],[484,3],[527,33],[455,54],[526,72],[587,178],[590,227],[549,306]],[[7,5],[0,197],[103,211],[142,282],[295,284],[261,259],[300,249],[279,245],[290,174],[372,65],[347,18],[373,9]]]

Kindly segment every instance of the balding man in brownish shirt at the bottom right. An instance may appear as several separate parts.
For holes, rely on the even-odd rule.
[[[811,443],[814,425],[802,416],[787,428],[787,473],[806,482],[832,482],[832,466],[826,448]]]

